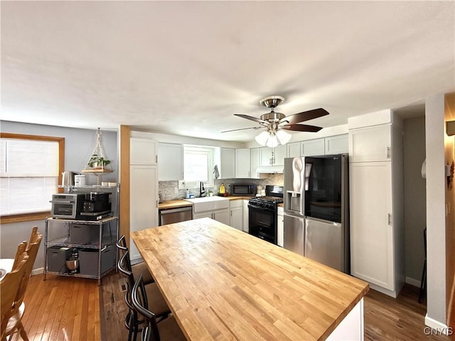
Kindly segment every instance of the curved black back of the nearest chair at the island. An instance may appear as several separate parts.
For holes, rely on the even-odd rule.
[[[142,275],[139,275],[132,290],[132,303],[134,310],[144,316],[144,327],[142,328],[142,341],[160,341],[158,324],[155,314],[149,310],[147,294],[145,291]]]

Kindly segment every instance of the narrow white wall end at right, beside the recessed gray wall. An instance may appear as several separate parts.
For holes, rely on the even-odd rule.
[[[446,222],[444,94],[425,99],[427,155],[427,316],[433,328],[446,325]]]

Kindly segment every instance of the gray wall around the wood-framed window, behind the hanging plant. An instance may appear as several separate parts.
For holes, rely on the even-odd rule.
[[[0,129],[4,133],[31,134],[41,136],[59,136],[65,138],[65,170],[80,172],[92,155],[96,146],[96,127],[94,130],[74,129],[60,126],[44,126],[41,124],[24,124],[11,121],[0,121]],[[118,174],[118,148],[117,131],[102,130],[102,147],[105,156],[112,162],[112,174],[103,175],[102,180],[117,181]],[[96,184],[96,177],[87,175],[87,185]],[[25,193],[26,195],[26,193]],[[51,198],[49,198],[50,200]],[[114,205],[114,202],[113,202]],[[44,235],[44,220],[17,222],[13,224],[0,224],[0,257],[14,258],[17,245],[30,237],[31,228],[38,226],[38,231]],[[36,256],[33,269],[43,267],[44,240]]]

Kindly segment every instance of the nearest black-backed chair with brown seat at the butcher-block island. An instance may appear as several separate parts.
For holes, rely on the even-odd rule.
[[[144,317],[141,341],[160,341],[161,339],[174,341],[186,340],[173,316],[157,323],[156,314],[149,310],[146,288],[140,275],[133,286],[132,303],[134,310]]]

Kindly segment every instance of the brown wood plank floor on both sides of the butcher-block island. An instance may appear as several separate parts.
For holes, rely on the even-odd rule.
[[[33,276],[23,318],[29,339],[127,340],[122,283],[119,274],[103,278],[100,287],[86,278],[48,275],[43,281],[43,276]],[[426,306],[417,297],[413,286],[405,286],[396,300],[370,290],[364,305],[365,340],[454,341],[453,335],[425,335]]]

